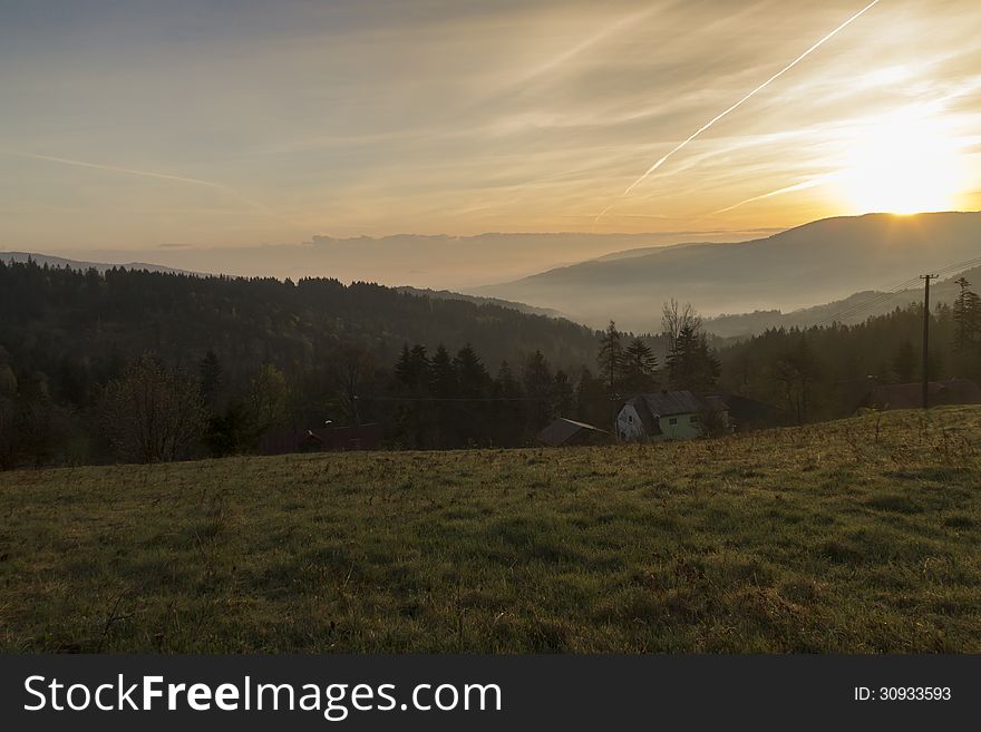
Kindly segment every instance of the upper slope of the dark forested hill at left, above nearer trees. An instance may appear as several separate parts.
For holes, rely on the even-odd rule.
[[[0,354],[19,377],[68,369],[98,380],[145,351],[193,368],[208,350],[230,378],[262,363],[299,373],[336,361],[347,344],[389,365],[406,342],[450,352],[472,343],[495,371],[536,350],[569,369],[595,353],[594,333],[567,320],[368,283],[100,275],[0,262]]]

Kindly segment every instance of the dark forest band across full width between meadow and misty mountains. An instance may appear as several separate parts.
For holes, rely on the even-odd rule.
[[[981,304],[931,313],[933,379],[981,378]],[[659,389],[728,392],[788,421],[853,413],[922,375],[922,306],[720,342],[670,301],[654,333],[592,332],[378,285],[0,263],[0,467],[255,452],[264,435],[381,426],[385,447],[517,447],[562,416],[610,429]]]

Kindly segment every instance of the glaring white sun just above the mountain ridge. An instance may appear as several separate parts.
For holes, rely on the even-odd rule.
[[[863,125],[841,170],[855,213],[952,211],[965,170],[955,136],[938,117],[909,113]]]

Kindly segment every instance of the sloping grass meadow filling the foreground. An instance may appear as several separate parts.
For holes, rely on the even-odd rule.
[[[981,409],[0,474],[2,652],[981,652]]]

